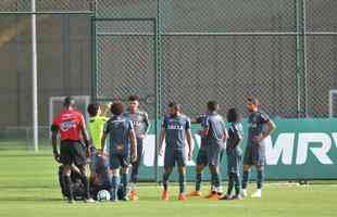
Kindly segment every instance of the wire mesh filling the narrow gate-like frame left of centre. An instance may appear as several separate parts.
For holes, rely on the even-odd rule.
[[[97,21],[97,97],[127,99],[154,118],[155,65],[153,21]]]

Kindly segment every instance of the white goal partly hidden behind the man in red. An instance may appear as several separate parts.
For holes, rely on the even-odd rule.
[[[90,95],[72,95],[76,101],[76,108],[79,110],[86,119],[89,120],[87,107],[90,103]],[[49,126],[52,124],[53,117],[62,110],[63,101],[66,97],[50,97],[49,98]],[[49,135],[51,137],[51,133]]]

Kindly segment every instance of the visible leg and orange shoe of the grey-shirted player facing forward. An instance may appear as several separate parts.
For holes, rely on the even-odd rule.
[[[136,184],[139,179],[139,166],[143,154],[142,139],[137,139],[137,161],[132,165],[130,200],[137,200]]]

